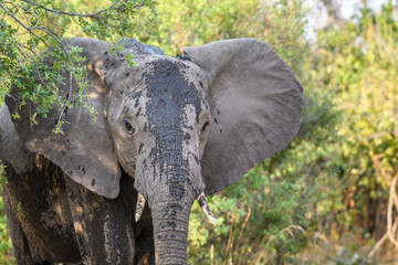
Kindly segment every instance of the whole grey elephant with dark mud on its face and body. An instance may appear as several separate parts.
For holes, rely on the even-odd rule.
[[[193,202],[216,224],[206,195],[297,134],[303,88],[265,42],[222,40],[177,56],[121,42],[114,53],[104,41],[69,41],[85,59],[96,119],[54,107],[32,125],[35,106],[19,107],[18,89],[4,99],[0,159],[18,264],[187,264]],[[65,78],[60,94],[76,89]]]

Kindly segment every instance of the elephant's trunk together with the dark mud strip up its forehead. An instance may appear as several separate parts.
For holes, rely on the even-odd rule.
[[[144,82],[150,138],[137,145],[135,188],[151,211],[156,264],[186,264],[190,209],[205,189],[196,131],[203,99],[178,63],[158,60],[154,67],[157,74]],[[142,97],[140,91],[132,96],[137,106]]]

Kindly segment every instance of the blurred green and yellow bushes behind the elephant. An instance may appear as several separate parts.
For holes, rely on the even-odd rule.
[[[193,205],[190,264],[398,262],[398,10],[389,3],[374,13],[365,6],[344,20],[333,1],[320,2],[335,18],[312,41],[305,29],[317,9],[304,0],[159,0],[157,22],[149,9],[135,14],[136,31],[123,31],[169,55],[188,45],[256,38],[276,50],[304,87],[296,139],[209,198],[220,225],[212,227]],[[104,4],[54,1],[52,7],[91,13]],[[94,26],[65,23],[71,24],[65,35]],[[2,59],[9,56],[3,52]],[[11,245],[4,227],[1,218],[0,261],[7,264]]]

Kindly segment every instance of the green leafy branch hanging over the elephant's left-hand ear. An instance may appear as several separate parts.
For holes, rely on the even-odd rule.
[[[38,113],[46,117],[50,109],[57,108],[61,115],[55,132],[62,132],[63,114],[69,108],[84,106],[93,116],[96,114],[86,95],[88,83],[81,51],[69,46],[66,36],[77,32],[108,41],[117,50],[121,47],[115,45],[115,38],[148,31],[157,17],[151,0],[112,0],[109,7],[87,13],[61,10],[60,6],[61,1],[50,0],[0,1],[0,102],[13,89],[11,97],[18,102],[18,108],[29,104],[32,109],[32,124],[36,124]],[[140,15],[144,12],[146,15]],[[51,49],[45,52],[45,61],[52,64],[43,64],[40,55],[48,46]],[[77,84],[78,89],[71,89],[62,98],[59,87],[65,78]],[[13,116],[19,117],[18,109]]]

